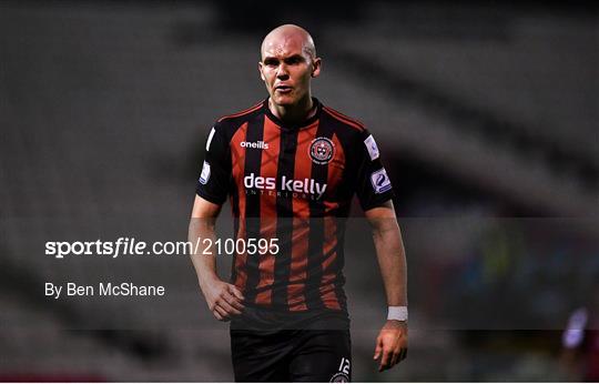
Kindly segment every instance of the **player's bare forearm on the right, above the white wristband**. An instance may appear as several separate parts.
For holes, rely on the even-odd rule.
[[[396,219],[379,219],[373,229],[373,239],[387,304],[407,305],[407,267],[402,232]]]

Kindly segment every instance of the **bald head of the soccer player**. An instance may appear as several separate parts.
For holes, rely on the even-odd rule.
[[[314,41],[301,27],[285,24],[272,30],[262,42],[258,71],[271,100],[278,107],[309,102],[309,81],[321,73]]]

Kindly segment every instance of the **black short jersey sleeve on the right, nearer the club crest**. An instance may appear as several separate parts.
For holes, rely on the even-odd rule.
[[[380,161],[380,151],[368,130],[361,133],[357,150],[358,174],[356,194],[364,211],[380,206],[395,196],[387,171]]]

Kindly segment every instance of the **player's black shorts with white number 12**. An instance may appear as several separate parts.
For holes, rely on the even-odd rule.
[[[348,330],[231,330],[236,382],[349,382]]]

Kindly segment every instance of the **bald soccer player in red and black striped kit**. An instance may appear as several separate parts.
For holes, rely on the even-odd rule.
[[[245,242],[230,283],[216,272],[215,244],[212,254],[192,254],[210,310],[231,321],[235,380],[351,380],[342,269],[354,194],[373,228],[389,305],[374,352],[379,371],[388,370],[407,354],[406,261],[376,142],[362,123],[312,97],[321,59],[304,29],[274,29],[261,54],[268,98],[212,128],[190,223],[190,241],[214,240],[229,196],[235,240]]]

